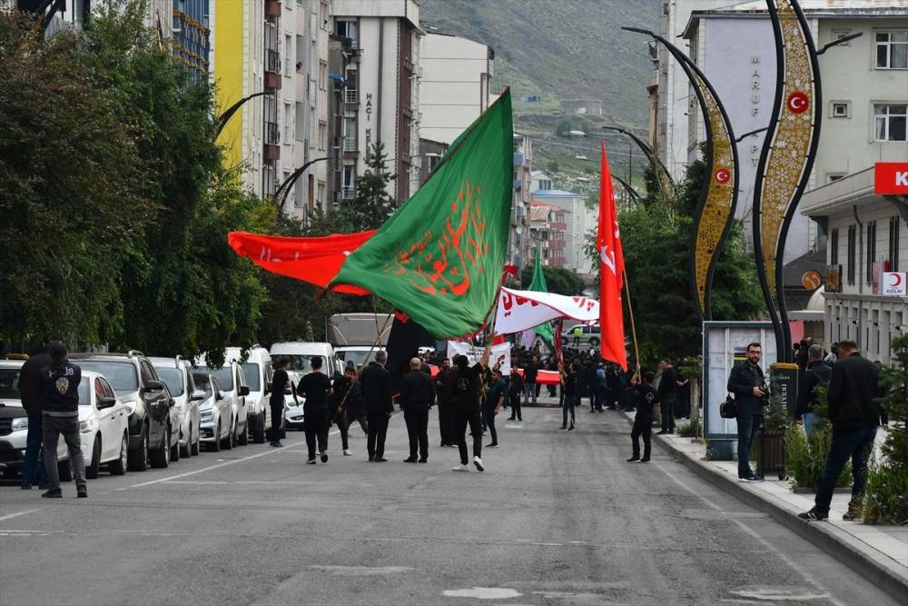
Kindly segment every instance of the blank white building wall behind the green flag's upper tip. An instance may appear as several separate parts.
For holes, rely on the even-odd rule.
[[[429,32],[419,61],[419,136],[451,144],[489,108],[495,52],[456,35]]]

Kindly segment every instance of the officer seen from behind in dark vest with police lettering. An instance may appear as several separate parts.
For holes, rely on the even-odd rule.
[[[54,341],[47,348],[51,363],[41,369],[39,386],[44,402],[42,431],[44,438],[44,469],[47,471],[48,490],[41,496],[59,499],[60,475],[57,472],[56,447],[60,434],[69,449],[73,462],[75,489],[80,499],[88,496],[85,482],[85,459],[82,454],[82,440],[79,436],[79,383],[82,369],[66,359],[66,346]]]

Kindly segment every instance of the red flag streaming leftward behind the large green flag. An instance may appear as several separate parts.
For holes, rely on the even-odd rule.
[[[369,240],[375,232],[332,233],[313,238],[288,238],[257,233],[231,232],[227,242],[246,257],[271,273],[286,275],[325,288],[341,271],[347,255]],[[337,293],[369,294],[359,286],[339,284]]]

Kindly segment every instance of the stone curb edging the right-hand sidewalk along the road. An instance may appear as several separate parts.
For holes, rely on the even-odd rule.
[[[633,422],[632,419],[629,421]],[[908,605],[908,577],[905,576],[904,569],[897,563],[883,559],[884,556],[881,557],[870,547],[855,544],[854,541],[844,541],[837,536],[834,526],[823,522],[804,522],[798,519],[778,503],[746,490],[741,484],[732,480],[727,473],[716,471],[706,463],[691,458],[662,436],[654,433],[653,440],[706,482],[728,492],[754,509],[768,513],[775,522],[779,522],[788,530],[794,531],[798,536],[812,542],[836,560],[857,571],[868,581],[888,593],[893,600]]]

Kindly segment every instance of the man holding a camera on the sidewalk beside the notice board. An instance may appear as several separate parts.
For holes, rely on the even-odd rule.
[[[728,391],[735,394],[737,404],[738,426],[738,480],[741,482],[761,482],[750,469],[750,446],[763,421],[767,389],[760,359],[763,348],[760,343],[747,345],[747,359],[735,364],[728,377]]]

